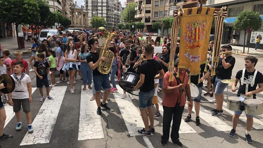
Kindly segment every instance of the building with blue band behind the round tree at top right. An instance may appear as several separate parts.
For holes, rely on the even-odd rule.
[[[263,1],[262,0],[208,0],[206,3],[206,7],[221,8],[223,6],[227,7],[227,18],[224,19],[222,43],[232,43],[232,36],[234,33],[237,33],[238,38],[236,39],[235,45],[243,45],[244,38],[245,38],[245,45],[248,45],[250,41],[251,33],[248,32],[246,36],[244,36],[243,30],[235,30],[233,27],[234,21],[237,19],[237,16],[242,11],[259,12],[263,20]],[[253,31],[263,32],[263,24],[259,30],[253,30]],[[253,45],[255,44],[252,43],[250,44],[250,46]]]

